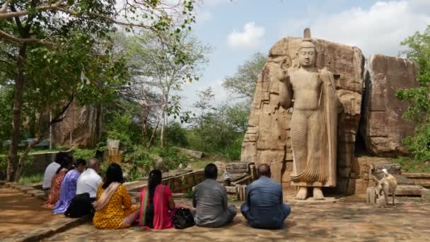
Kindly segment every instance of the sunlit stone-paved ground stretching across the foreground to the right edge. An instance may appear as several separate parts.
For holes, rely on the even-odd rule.
[[[190,200],[177,204],[190,207]],[[235,202],[238,205],[239,203]],[[430,204],[378,208],[364,203],[293,204],[284,229],[252,229],[238,214],[222,229],[98,230],[87,223],[45,241],[428,241]]]

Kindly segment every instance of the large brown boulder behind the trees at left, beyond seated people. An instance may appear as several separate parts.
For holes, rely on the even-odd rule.
[[[64,113],[62,122],[52,127],[54,146],[93,148],[102,135],[101,105],[81,106],[75,101]]]

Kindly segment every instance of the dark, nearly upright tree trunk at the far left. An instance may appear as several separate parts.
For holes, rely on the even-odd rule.
[[[8,171],[6,180],[13,182],[16,176],[18,165],[18,139],[21,126],[21,113],[23,108],[23,89],[24,89],[24,58],[26,45],[19,48],[19,56],[16,59],[18,74],[15,79],[15,90],[13,92],[13,113],[11,130],[11,148],[8,154]]]

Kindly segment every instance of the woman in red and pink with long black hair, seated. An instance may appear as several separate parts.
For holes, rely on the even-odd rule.
[[[170,217],[175,210],[175,201],[170,188],[163,185],[161,180],[161,171],[152,170],[148,185],[140,192],[139,226],[144,229],[173,228]]]

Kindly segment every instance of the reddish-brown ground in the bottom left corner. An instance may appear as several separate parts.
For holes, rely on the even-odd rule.
[[[0,188],[0,201],[0,238],[55,218],[42,200],[13,188]]]

